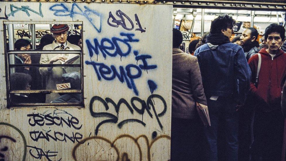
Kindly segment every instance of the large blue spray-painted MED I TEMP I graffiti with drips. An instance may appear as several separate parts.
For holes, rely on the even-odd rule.
[[[132,46],[130,45],[130,43],[136,43],[139,42],[139,40],[135,39],[135,35],[131,33],[120,33],[120,35],[123,36],[123,38],[103,38],[101,39],[101,41],[99,41],[98,39],[94,39],[94,46],[91,44],[90,40],[86,40],[89,56],[92,58],[93,54],[95,53],[97,55],[97,61],[100,52],[104,58],[106,58],[107,55],[109,55],[110,57],[120,55],[120,59],[122,56],[128,56],[132,51]],[[121,45],[119,45],[118,42],[121,42]],[[122,51],[123,47],[127,48],[126,52]],[[111,53],[110,51],[113,51],[113,53]],[[104,63],[99,63],[92,60],[86,61],[85,63],[87,65],[93,66],[99,81],[102,78],[110,81],[117,77],[121,83],[126,82],[127,87],[129,89],[133,89],[133,92],[138,96],[139,92],[135,85],[134,79],[140,78],[142,76],[141,70],[153,70],[157,68],[157,65],[148,64],[147,59],[151,59],[151,55],[139,55],[138,50],[134,50],[133,53],[135,55],[135,60],[137,61],[137,64],[128,64],[125,67],[119,66],[119,70],[116,69],[115,65],[111,65],[109,67]],[[138,65],[139,60],[142,61],[142,64]]]

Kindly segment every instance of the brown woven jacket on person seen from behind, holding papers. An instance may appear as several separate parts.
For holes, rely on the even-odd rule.
[[[198,59],[173,48],[172,117],[195,118],[196,101],[207,105]]]

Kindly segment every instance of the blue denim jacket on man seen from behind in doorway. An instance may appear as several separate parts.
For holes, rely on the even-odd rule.
[[[249,90],[251,70],[241,46],[207,43],[199,47],[194,55],[198,58],[207,98],[232,97],[243,105]]]

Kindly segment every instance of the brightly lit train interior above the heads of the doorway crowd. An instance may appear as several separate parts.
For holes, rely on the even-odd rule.
[[[250,11],[232,9],[200,9],[200,8],[173,8],[173,27],[179,29],[183,34],[181,50],[193,54],[199,45],[204,43],[207,33],[210,31],[211,21],[218,15],[227,14],[236,20],[236,25],[231,35],[231,40],[238,38],[242,32],[249,27],[254,27],[258,31],[257,41],[261,39],[265,28],[271,23],[279,23],[285,26],[285,12],[277,11]],[[200,41],[204,39],[203,41]],[[190,45],[200,42],[199,45]]]

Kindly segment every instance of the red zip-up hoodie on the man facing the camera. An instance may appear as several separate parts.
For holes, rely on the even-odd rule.
[[[286,79],[286,53],[283,50],[271,57],[263,48],[258,53],[261,54],[261,67],[258,76],[258,86],[255,87],[255,79],[258,65],[258,55],[253,55],[248,64],[251,69],[251,94],[258,98],[259,106],[265,112],[281,108],[281,95]]]

